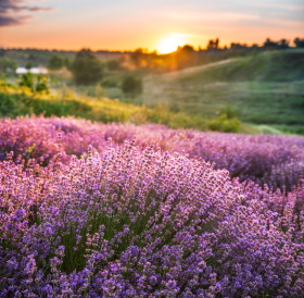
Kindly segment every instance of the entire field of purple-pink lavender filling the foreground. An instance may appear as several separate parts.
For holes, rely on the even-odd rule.
[[[303,297],[304,138],[0,122],[0,297]]]

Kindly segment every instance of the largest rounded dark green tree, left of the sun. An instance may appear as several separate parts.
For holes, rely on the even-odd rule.
[[[103,66],[91,50],[83,49],[75,57],[72,73],[76,84],[90,85],[101,80]]]

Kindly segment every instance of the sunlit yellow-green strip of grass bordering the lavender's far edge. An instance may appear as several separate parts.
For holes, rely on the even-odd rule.
[[[78,86],[76,88],[56,86],[51,92],[46,92],[0,79],[0,116],[16,117],[31,114],[43,114],[46,116],[75,115],[103,123],[156,123],[172,128],[195,128],[200,131],[237,133],[251,129],[241,124],[235,116],[208,120],[199,115],[189,115],[182,111],[172,111],[163,104],[148,108],[144,104],[110,99],[104,97],[99,85]],[[251,131],[257,132],[255,129]]]

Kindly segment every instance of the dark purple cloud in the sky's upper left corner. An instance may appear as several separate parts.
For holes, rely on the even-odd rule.
[[[28,12],[50,11],[52,8],[29,5],[27,0],[1,0],[0,26],[23,25],[33,16]],[[26,13],[21,15],[20,13]]]

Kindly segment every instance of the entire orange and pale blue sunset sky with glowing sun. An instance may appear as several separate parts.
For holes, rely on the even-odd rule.
[[[0,47],[165,52],[304,37],[303,0],[0,0]]]

